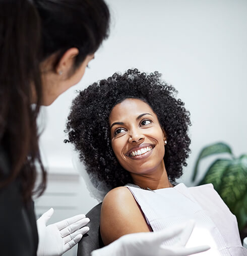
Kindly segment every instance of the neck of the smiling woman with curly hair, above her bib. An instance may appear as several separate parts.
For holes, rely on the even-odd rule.
[[[173,187],[170,183],[164,162],[162,161],[161,165],[145,174],[136,174],[131,173],[134,184],[138,185],[141,188],[150,188],[152,190],[159,188]]]

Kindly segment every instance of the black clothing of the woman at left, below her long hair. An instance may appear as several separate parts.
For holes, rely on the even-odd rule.
[[[0,179],[6,174],[6,160],[0,152]],[[5,170],[4,170],[5,169]],[[32,201],[24,204],[18,180],[0,189],[0,254],[36,255],[38,234]]]

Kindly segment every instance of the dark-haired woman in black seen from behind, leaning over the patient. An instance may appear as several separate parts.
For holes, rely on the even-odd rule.
[[[0,254],[29,256],[38,246],[31,198],[37,170],[42,181],[35,192],[40,195],[46,185],[36,118],[41,105],[81,80],[107,37],[109,11],[103,0],[1,0],[0,24]],[[47,232],[51,214],[39,222],[40,232]],[[75,237],[59,223],[51,229],[66,244],[39,255],[60,255],[83,234]]]

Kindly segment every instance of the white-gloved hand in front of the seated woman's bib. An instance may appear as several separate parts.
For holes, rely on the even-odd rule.
[[[190,221],[184,225],[168,228],[159,232],[144,232],[129,234],[120,237],[109,245],[94,250],[92,256],[186,256],[208,250],[208,245],[186,248],[195,222]],[[170,246],[161,246],[162,242],[176,235],[179,241]]]

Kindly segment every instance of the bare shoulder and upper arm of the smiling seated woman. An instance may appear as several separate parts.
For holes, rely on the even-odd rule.
[[[145,217],[127,187],[117,187],[106,194],[100,215],[100,233],[105,245],[126,234],[149,231]]]

